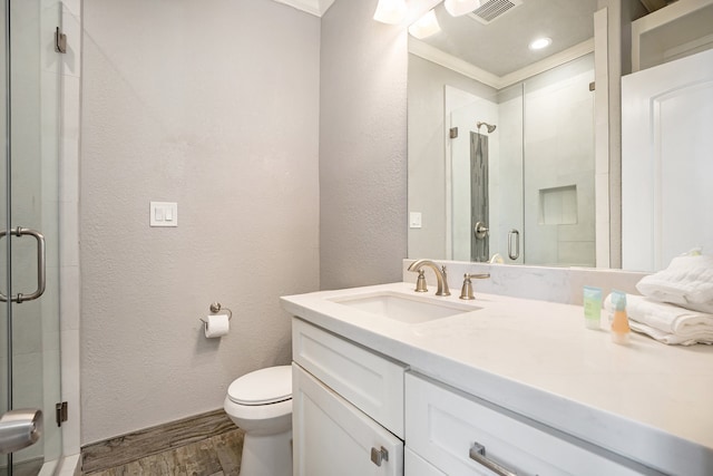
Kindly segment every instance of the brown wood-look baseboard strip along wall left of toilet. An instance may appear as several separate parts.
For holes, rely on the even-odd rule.
[[[236,429],[223,409],[92,443],[81,448],[82,473],[121,466]]]

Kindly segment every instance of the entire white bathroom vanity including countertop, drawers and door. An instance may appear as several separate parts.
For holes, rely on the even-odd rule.
[[[402,314],[426,312],[417,304],[465,305],[414,294],[282,298],[295,317],[295,475],[713,475],[713,349],[616,346],[584,329],[580,307],[498,294],[413,323]],[[374,300],[384,307],[355,304]],[[387,305],[402,301],[413,305]]]

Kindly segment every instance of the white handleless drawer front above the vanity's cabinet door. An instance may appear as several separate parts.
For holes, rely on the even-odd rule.
[[[292,358],[356,408],[403,438],[402,365],[301,319],[292,320]]]

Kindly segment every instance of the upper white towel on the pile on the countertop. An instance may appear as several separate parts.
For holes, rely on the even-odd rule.
[[[643,278],[636,289],[654,301],[713,313],[713,255],[674,258],[665,270]]]

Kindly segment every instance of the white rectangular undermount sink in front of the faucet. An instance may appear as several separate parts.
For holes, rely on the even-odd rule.
[[[410,324],[418,324],[480,309],[468,304],[459,304],[450,301],[436,302],[430,298],[419,295],[411,297],[389,291],[333,298],[330,299],[330,301]]]

